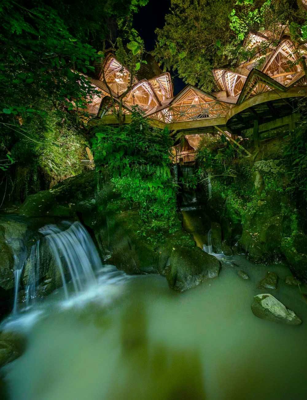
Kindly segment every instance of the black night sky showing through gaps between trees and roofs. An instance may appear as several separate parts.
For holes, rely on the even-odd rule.
[[[140,7],[138,13],[134,15],[134,28],[144,40],[147,51],[152,51],[155,48],[155,41],[157,39],[155,29],[163,28],[165,14],[169,12],[170,6],[171,0],[149,0],[148,4],[144,7]],[[174,72],[168,72],[170,72],[172,76],[174,94],[177,94],[186,85],[180,78],[174,77]]]

